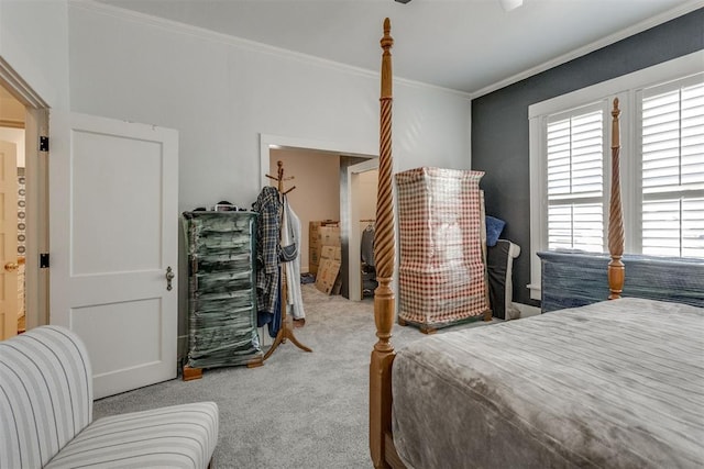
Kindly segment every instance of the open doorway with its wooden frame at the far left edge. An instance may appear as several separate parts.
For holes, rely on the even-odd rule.
[[[0,276],[3,298],[0,338],[48,323],[48,272],[40,253],[48,253],[48,107],[0,57],[0,141],[8,142],[3,178],[11,201],[3,209]],[[12,206],[9,206],[12,205]]]

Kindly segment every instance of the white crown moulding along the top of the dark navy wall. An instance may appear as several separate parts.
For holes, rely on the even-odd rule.
[[[543,64],[540,64],[536,67],[529,68],[525,71],[521,71],[520,74],[516,74],[512,77],[505,78],[501,81],[497,81],[495,83],[492,83],[487,87],[482,88],[479,91],[474,91],[472,92],[471,97],[472,99],[475,98],[480,98],[484,94],[488,94],[493,91],[496,91],[498,89],[502,89],[504,87],[507,87],[509,85],[514,85],[520,80],[525,80],[526,78],[530,78],[534,75],[538,75],[541,74],[543,71],[547,71],[551,68],[554,68],[559,65],[562,64],[566,64],[570,60],[573,60],[575,58],[582,57],[586,54],[590,54],[594,51],[598,51],[600,48],[606,47],[610,44],[617,43],[618,41],[625,40],[627,37],[630,37],[632,35],[636,35],[638,33],[642,33],[644,31],[647,31],[651,27],[658,26],[662,23],[667,23],[668,21],[674,20],[675,18],[680,18],[686,13],[691,13],[694,10],[698,10],[700,8],[704,7],[704,1],[702,0],[697,0],[697,1],[691,1],[691,2],[685,2],[684,4],[676,7],[672,10],[669,10],[662,14],[659,14],[657,16],[652,16],[646,21],[641,21],[640,23],[634,24],[625,30],[622,30],[617,33],[614,33],[609,36],[606,36],[600,41],[593,42],[591,44],[587,44],[583,47],[580,47],[575,51],[569,52],[564,55],[561,55],[559,57],[552,58]]]

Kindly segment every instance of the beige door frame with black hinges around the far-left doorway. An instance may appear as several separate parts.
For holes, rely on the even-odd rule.
[[[26,328],[48,324],[48,269],[40,268],[40,253],[48,253],[48,152],[40,136],[48,136],[48,104],[0,57],[0,86],[25,110],[24,154],[26,185],[25,320]]]

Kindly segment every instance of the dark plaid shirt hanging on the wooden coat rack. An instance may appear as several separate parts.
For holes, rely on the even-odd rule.
[[[256,293],[257,293],[257,325],[268,324],[276,308],[276,297],[279,290],[279,238],[282,222],[282,203],[278,190],[266,186],[252,204],[252,210],[260,213],[256,225]]]

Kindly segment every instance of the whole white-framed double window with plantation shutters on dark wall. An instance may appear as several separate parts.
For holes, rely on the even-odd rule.
[[[620,101],[625,250],[704,259],[704,51],[529,108],[536,253],[606,253],[612,102]]]

